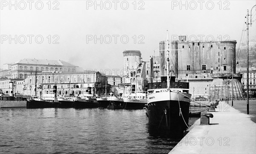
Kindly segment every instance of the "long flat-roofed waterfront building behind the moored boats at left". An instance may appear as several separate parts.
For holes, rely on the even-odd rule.
[[[103,86],[106,80],[107,77],[96,71],[57,73],[44,71],[36,75],[28,75],[22,84],[16,85],[14,91],[20,91],[20,94],[24,95],[41,95],[52,91],[53,86],[57,86],[58,95],[77,95],[89,89],[92,94],[101,94],[105,89]]]

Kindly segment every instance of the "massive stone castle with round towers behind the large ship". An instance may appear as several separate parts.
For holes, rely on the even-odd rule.
[[[159,82],[161,76],[166,76],[165,46],[165,41],[160,41],[157,55],[149,57],[148,61],[142,60],[140,51],[123,51],[125,85],[136,84],[137,90],[146,90],[147,83]],[[189,82],[192,97],[226,100],[229,94],[231,98],[232,72],[233,98],[246,97],[241,85],[242,75],[236,74],[236,40],[190,42],[186,41],[186,36],[180,36],[178,41],[169,43],[169,48],[170,71],[177,80]]]

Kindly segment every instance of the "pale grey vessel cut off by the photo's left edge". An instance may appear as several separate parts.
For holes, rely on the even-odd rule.
[[[22,108],[26,107],[26,99],[21,95],[13,94],[13,82],[9,83],[11,91],[4,94],[0,89],[0,108]],[[8,91],[6,92],[8,93]]]

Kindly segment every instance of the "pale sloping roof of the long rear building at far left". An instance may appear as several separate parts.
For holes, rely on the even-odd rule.
[[[32,64],[32,65],[55,65],[55,66],[73,66],[70,63],[67,63],[63,60],[39,60],[39,59],[30,59],[24,58],[23,60],[17,61],[13,64]]]

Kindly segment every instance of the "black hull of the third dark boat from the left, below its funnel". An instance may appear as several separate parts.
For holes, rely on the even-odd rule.
[[[98,108],[99,106],[97,100],[77,99],[74,104],[75,108]]]

